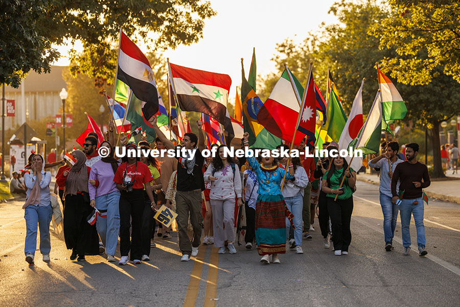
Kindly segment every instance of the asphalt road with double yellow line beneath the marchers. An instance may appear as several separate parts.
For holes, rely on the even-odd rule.
[[[378,186],[358,182],[348,256],[324,249],[315,231],[303,255],[288,250],[279,265],[260,264],[257,251],[243,246],[235,255],[201,246],[195,261],[180,262],[174,235],[156,240],[150,262],[124,267],[101,256],[73,262],[53,232],[50,263],[37,251],[29,267],[22,202],[0,204],[0,306],[458,306],[460,205],[430,200],[429,254],[419,257],[416,247],[402,255],[399,219],[395,250],[384,251],[378,202]],[[414,243],[413,223],[411,234]]]

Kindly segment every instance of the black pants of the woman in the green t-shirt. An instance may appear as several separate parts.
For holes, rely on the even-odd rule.
[[[353,213],[353,196],[346,200],[328,197],[328,210],[332,222],[334,250],[348,252],[351,243],[350,221]]]

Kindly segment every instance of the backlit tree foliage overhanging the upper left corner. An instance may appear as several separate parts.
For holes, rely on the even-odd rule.
[[[204,19],[216,14],[208,1],[12,1],[2,4],[0,83],[17,87],[31,69],[47,72],[58,53],[52,44],[83,43],[72,49],[71,72],[103,86],[112,82],[120,27],[151,51],[190,45],[203,36]],[[5,30],[6,29],[6,30]],[[11,47],[12,46],[12,47]]]

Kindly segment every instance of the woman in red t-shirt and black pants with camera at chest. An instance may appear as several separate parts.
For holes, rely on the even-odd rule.
[[[126,152],[135,149],[134,144],[126,146]],[[117,169],[113,181],[117,183],[120,193],[120,254],[119,265],[128,263],[128,253],[131,250],[131,260],[140,264],[142,259],[142,216],[144,213],[144,188],[150,200],[152,210],[155,205],[150,182],[153,180],[149,167],[139,161],[139,157],[124,157],[123,163]],[[131,238],[129,228],[131,227]]]

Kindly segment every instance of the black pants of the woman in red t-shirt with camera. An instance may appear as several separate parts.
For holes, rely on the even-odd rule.
[[[120,254],[127,256],[131,250],[131,260],[142,258],[142,216],[144,214],[144,190],[120,193]],[[131,239],[129,238],[129,218],[132,221]]]

